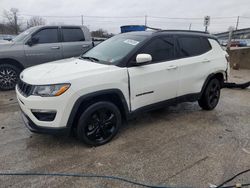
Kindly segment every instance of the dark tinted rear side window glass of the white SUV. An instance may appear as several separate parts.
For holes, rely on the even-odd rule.
[[[201,55],[211,50],[209,41],[203,37],[179,37],[181,57]]]

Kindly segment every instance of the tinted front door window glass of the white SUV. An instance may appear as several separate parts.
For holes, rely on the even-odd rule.
[[[140,53],[150,54],[152,56],[152,62],[174,59],[174,39],[171,37],[154,39],[152,42],[146,45],[146,47]]]

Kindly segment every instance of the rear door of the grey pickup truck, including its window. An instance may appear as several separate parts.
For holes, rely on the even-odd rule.
[[[91,48],[80,27],[61,27],[63,57],[77,57]]]

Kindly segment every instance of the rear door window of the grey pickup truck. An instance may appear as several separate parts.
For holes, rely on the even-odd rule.
[[[80,28],[63,28],[64,42],[84,41],[84,35]]]

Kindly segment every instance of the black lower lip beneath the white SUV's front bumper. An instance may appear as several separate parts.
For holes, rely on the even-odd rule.
[[[53,135],[69,135],[70,128],[51,128],[51,127],[41,127],[36,125],[23,111],[22,111],[22,119],[26,127],[34,133],[41,134],[53,134]]]

